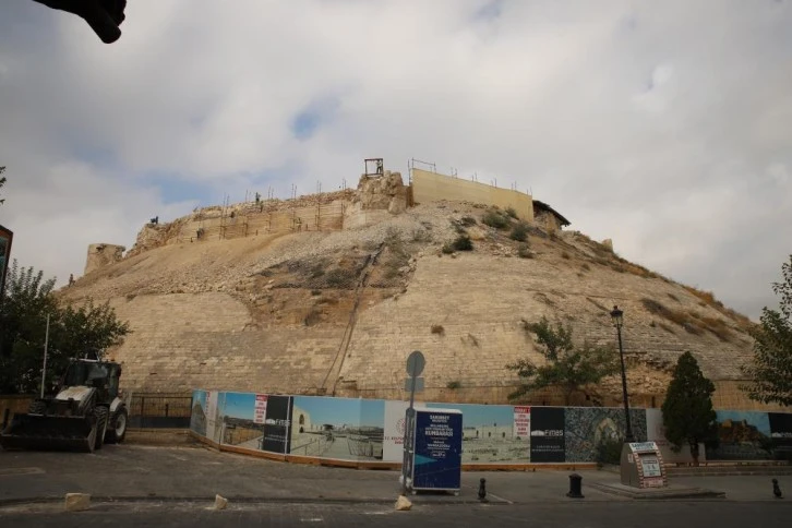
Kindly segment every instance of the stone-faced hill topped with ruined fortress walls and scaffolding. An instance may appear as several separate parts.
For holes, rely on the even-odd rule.
[[[518,223],[525,241],[509,237]],[[61,295],[109,300],[129,321],[111,355],[134,391],[399,398],[405,359],[419,349],[425,400],[504,403],[516,383],[505,365],[538,358],[528,323],[548,316],[579,340],[613,344],[619,304],[635,405],[660,405],[686,350],[716,381],[717,405],[753,405],[736,389],[747,319],[567,226],[525,193],[380,170],[356,190],[149,223],[123,259],[93,265]],[[454,250],[463,236],[472,251]],[[620,380],[590,394],[617,405]]]

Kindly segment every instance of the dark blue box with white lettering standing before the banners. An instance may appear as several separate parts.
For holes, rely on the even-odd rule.
[[[416,409],[413,490],[458,491],[461,485],[463,415]]]

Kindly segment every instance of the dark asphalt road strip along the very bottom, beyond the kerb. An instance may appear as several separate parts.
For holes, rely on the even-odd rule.
[[[395,512],[384,505],[265,504],[242,505],[214,512],[204,504],[119,504],[91,512],[0,512],[5,527],[437,527],[499,528],[781,528],[789,526],[792,502],[621,502],[531,505],[423,505],[411,512]]]

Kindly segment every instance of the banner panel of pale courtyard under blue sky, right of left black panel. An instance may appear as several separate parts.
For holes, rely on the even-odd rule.
[[[289,453],[340,460],[383,459],[385,401],[295,396]]]

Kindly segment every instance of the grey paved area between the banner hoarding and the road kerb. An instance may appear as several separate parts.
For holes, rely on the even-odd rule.
[[[463,472],[459,496],[410,495],[416,504],[478,503],[481,478],[492,505],[631,501],[593,488],[617,483],[608,471],[578,471],[585,499],[566,497],[567,471]],[[0,505],[62,500],[69,492],[94,501],[339,502],[393,504],[400,492],[398,471],[303,466],[217,453],[195,447],[110,445],[96,454],[0,452]],[[792,494],[792,477],[778,477]],[[727,492],[727,500],[773,500],[766,477],[693,477],[673,484]]]

